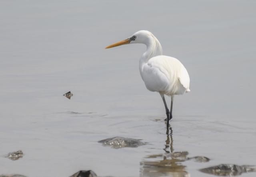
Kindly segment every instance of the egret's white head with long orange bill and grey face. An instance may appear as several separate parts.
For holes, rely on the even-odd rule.
[[[140,31],[134,33],[132,36],[130,36],[130,38],[127,38],[120,42],[116,42],[110,46],[107,46],[106,49],[121,46],[124,44],[134,44],[134,43],[146,44],[147,40],[152,36],[153,36],[153,34],[151,32],[146,31],[146,30],[140,30]]]

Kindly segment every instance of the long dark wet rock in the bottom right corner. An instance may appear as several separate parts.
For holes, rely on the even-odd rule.
[[[242,173],[256,171],[256,166],[221,164],[214,167],[200,169],[199,171],[216,176],[237,176],[241,175]]]

